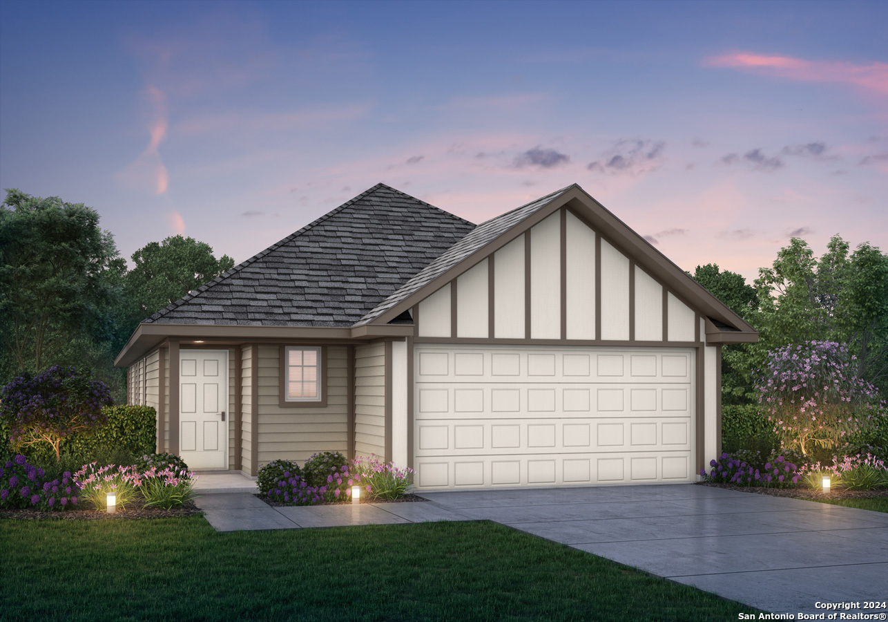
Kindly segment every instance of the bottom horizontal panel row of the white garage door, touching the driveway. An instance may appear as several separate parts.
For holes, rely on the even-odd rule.
[[[685,482],[691,476],[690,456],[679,452],[424,458],[414,466],[423,490]]]

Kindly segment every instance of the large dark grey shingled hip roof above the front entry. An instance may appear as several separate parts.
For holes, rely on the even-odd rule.
[[[352,326],[474,227],[377,184],[145,322]]]

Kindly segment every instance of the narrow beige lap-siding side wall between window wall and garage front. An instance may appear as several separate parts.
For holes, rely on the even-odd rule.
[[[354,348],[354,453],[385,456],[385,342]]]

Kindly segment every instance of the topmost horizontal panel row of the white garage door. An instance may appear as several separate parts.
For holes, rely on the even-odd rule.
[[[668,382],[691,379],[690,352],[664,353],[614,348],[578,353],[576,348],[503,352],[495,349],[422,347],[416,355],[416,381]]]

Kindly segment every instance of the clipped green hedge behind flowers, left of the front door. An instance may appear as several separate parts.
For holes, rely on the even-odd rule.
[[[124,450],[133,456],[154,453],[156,439],[156,412],[151,406],[106,406],[102,413],[107,423],[94,429],[68,436],[60,445],[67,453],[83,462],[89,462],[99,452]],[[9,423],[0,419],[0,453],[12,452],[9,442]],[[48,443],[36,443],[20,448],[32,463],[55,462],[55,452]]]

